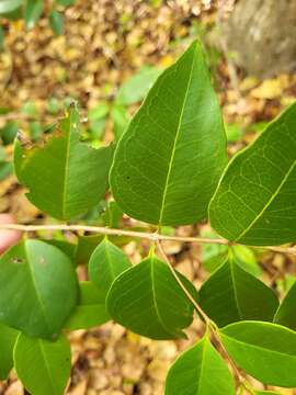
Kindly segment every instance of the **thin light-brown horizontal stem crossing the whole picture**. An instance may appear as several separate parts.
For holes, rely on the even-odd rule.
[[[89,232],[100,235],[111,235],[111,236],[130,236],[139,237],[149,240],[162,240],[162,241],[180,241],[180,242],[194,242],[194,244],[218,244],[224,246],[235,245],[237,242],[231,242],[224,238],[209,238],[209,237],[183,237],[183,236],[167,236],[149,232],[136,232],[128,229],[113,229],[103,226],[87,226],[87,225],[20,225],[20,224],[0,224],[0,229],[7,230],[22,230],[22,232],[38,232],[38,230],[65,230],[65,232]],[[296,248],[294,247],[274,247],[274,246],[249,246],[252,248],[266,249],[273,252],[289,253],[296,256]]]

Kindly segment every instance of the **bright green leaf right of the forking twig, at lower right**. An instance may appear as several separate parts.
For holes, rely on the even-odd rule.
[[[234,361],[264,384],[295,387],[296,332],[283,326],[242,321],[220,330]]]

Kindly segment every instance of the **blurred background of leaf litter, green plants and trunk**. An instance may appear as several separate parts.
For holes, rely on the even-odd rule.
[[[83,140],[95,147],[117,140],[161,70],[195,38],[205,47],[223,106],[229,156],[295,100],[295,0],[0,0],[0,213],[12,214],[18,223],[55,223],[30,204],[15,181],[11,156],[18,131],[42,142],[76,100]],[[141,226],[109,198],[78,221],[110,225],[110,216],[113,227]],[[207,224],[178,229],[180,236],[197,233],[212,235]],[[52,236],[72,242],[79,263],[99,240]],[[136,262],[147,252],[145,241],[118,242]],[[166,244],[175,267],[197,286],[221,262],[225,249]],[[247,247],[237,247],[237,256],[280,294],[293,281],[293,257]],[[68,393],[161,395],[169,365],[200,331],[194,324],[187,340],[162,342],[113,324],[76,331],[70,335]],[[0,394],[25,392],[12,373],[0,382]]]

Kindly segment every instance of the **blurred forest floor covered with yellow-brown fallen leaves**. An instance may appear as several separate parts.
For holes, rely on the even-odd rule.
[[[32,123],[49,123],[57,115],[50,114],[48,108],[65,98],[78,99],[87,112],[101,101],[112,100],[122,82],[144,65],[171,65],[195,37],[205,43],[210,54],[230,156],[295,98],[296,76],[259,81],[242,70],[229,74],[234,65],[231,56],[219,50],[213,1],[79,0],[67,9],[65,33],[60,36],[53,34],[46,18],[30,32],[21,21],[7,22],[5,27],[5,48],[0,54],[0,108],[11,111],[0,116],[2,128],[11,122],[23,131]],[[111,125],[106,123],[105,128],[107,136]],[[4,149],[10,156],[11,145]],[[0,212],[12,213],[19,223],[47,221],[27,202],[13,176],[0,182]],[[196,235],[197,230],[208,232],[207,225],[198,229],[181,227],[178,234]],[[125,246],[134,261],[147,249],[145,244],[139,249],[137,246],[135,241]],[[207,251],[201,247],[170,242],[166,251],[197,287],[208,275],[201,264]],[[294,258],[265,253],[259,259],[264,280],[280,291],[284,289],[283,273],[295,274]],[[68,393],[161,395],[170,364],[198,339],[202,330],[196,319],[186,331],[189,339],[178,341],[152,341],[115,324],[76,331],[70,335],[73,368]],[[282,393],[293,394],[291,390]],[[0,383],[0,394],[24,394],[13,372],[7,383]]]

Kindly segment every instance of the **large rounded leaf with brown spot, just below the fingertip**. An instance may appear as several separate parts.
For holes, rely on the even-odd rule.
[[[58,248],[25,240],[0,258],[0,321],[53,339],[78,296],[73,264]]]

